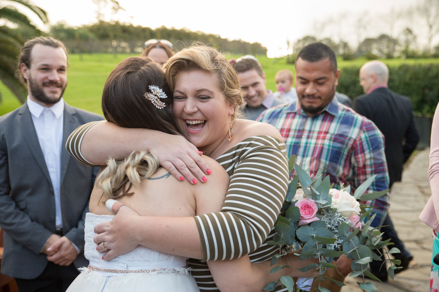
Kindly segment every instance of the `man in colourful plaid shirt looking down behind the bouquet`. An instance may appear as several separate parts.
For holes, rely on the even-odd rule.
[[[298,101],[264,111],[257,121],[269,123],[281,132],[287,155],[315,175],[329,175],[335,188],[351,185],[353,190],[376,174],[368,192],[386,190],[389,174],[383,135],[371,121],[334,99],[340,70],[335,53],[322,43],[304,47],[295,61]],[[385,194],[366,204],[375,207],[372,226],[380,226],[389,208]],[[350,262],[340,258],[342,274]],[[332,290],[331,290],[332,291]]]

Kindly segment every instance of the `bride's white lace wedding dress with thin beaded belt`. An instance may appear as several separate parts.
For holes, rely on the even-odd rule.
[[[113,260],[102,260],[103,253],[97,252],[96,244],[93,242],[95,236],[93,229],[97,224],[108,222],[113,217],[111,215],[86,214],[84,249],[85,257],[90,261],[90,266],[82,269],[82,273],[68,287],[68,292],[200,291],[189,269],[186,268],[187,257],[174,256],[144,246],[137,246],[135,250],[115,257]],[[158,271],[152,271],[153,269],[158,269]]]

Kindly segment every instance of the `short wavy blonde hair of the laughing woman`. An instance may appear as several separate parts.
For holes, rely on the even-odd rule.
[[[180,72],[202,70],[215,75],[223,95],[235,106],[232,118],[241,115],[243,95],[238,75],[226,57],[216,49],[198,43],[194,44],[170,57],[163,68],[171,91],[174,91],[174,80]]]

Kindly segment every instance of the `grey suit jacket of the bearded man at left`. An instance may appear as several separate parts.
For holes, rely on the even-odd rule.
[[[61,147],[61,212],[64,235],[84,248],[93,169],[79,164],[64,145],[76,127],[102,117],[65,103]],[[38,277],[47,266],[40,253],[55,232],[54,190],[31,113],[25,103],[0,117],[0,227],[4,229],[1,273],[23,279]],[[81,253],[76,267],[86,266]]]

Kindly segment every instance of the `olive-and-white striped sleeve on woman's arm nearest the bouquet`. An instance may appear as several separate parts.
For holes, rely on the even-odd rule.
[[[288,187],[285,144],[267,136],[237,144],[217,161],[230,176],[220,212],[194,216],[203,261],[230,260],[256,250],[269,235]]]

